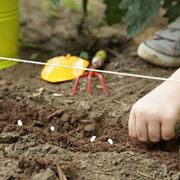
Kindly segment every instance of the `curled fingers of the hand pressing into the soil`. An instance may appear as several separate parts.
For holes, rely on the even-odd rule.
[[[129,135],[141,142],[157,143],[161,139],[170,140],[175,136],[174,118],[141,108],[132,108],[129,116]],[[173,123],[174,122],[174,123]]]

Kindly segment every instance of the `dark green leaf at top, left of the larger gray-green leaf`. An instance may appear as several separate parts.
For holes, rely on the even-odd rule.
[[[122,0],[104,0],[106,4],[106,21],[109,25],[119,23],[123,18],[126,10],[120,9],[119,5]]]

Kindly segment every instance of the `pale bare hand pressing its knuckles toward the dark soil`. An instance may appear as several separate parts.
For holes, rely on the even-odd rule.
[[[141,142],[172,139],[180,118],[179,92],[180,84],[164,82],[137,101],[130,112],[129,135]]]

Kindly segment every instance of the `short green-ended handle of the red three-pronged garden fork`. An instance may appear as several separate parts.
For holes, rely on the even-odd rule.
[[[92,59],[92,65],[96,66],[96,68],[99,68],[104,64],[106,58],[107,58],[106,51],[100,50],[96,53],[96,55]]]

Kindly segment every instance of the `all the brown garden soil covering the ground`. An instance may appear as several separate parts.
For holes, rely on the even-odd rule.
[[[21,0],[21,58],[46,62],[69,52],[88,51],[92,56],[103,48],[108,52],[106,70],[159,77],[175,71],[136,56],[135,42],[149,35],[149,29],[129,41],[123,25],[108,27],[94,14],[79,34],[80,12],[60,7],[60,15],[52,17],[38,2]],[[96,8],[103,12],[99,4]],[[158,20],[153,31],[165,25]],[[131,106],[160,82],[104,75],[108,95],[93,79],[88,96],[82,79],[72,96],[73,82],[42,81],[41,69],[18,64],[0,72],[0,179],[58,179],[57,163],[73,180],[180,179],[179,125],[169,142],[145,145],[128,136]],[[92,136],[97,137],[94,142]]]

